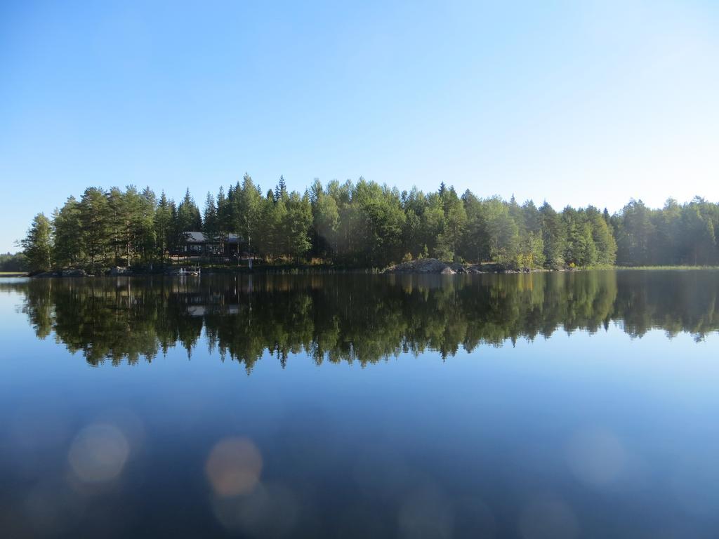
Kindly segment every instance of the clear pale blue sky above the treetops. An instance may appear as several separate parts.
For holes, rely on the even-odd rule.
[[[245,171],[719,201],[719,2],[0,2],[0,252],[88,185]]]

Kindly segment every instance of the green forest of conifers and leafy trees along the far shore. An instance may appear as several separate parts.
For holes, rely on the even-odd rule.
[[[226,192],[207,193],[202,211],[189,190],[175,203],[150,188],[87,188],[50,218],[35,216],[21,244],[33,272],[166,262],[187,231],[220,245],[237,234],[238,252],[268,264],[386,267],[433,257],[560,269],[719,264],[717,230],[719,204],[699,197],[669,199],[661,209],[632,200],[610,215],[594,206],[556,211],[546,202],[459,195],[444,183],[423,193],[364,178],[315,180],[304,193],[290,193],[280,177],[263,193],[245,174]]]

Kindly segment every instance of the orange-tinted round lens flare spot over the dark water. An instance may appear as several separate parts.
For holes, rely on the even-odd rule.
[[[219,441],[205,464],[207,479],[219,497],[252,492],[260,481],[262,455],[247,438]]]

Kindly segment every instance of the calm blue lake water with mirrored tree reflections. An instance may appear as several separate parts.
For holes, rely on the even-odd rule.
[[[0,536],[716,538],[719,272],[0,280]]]

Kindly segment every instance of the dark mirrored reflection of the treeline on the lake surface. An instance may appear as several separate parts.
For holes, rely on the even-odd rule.
[[[37,332],[52,333],[96,365],[130,363],[182,346],[208,346],[248,372],[268,352],[280,361],[388,359],[426,350],[500,346],[563,331],[632,336],[653,328],[701,339],[719,331],[714,271],[482,275],[227,276],[202,280],[32,280],[24,296]]]

